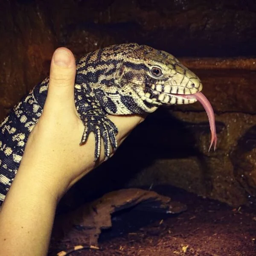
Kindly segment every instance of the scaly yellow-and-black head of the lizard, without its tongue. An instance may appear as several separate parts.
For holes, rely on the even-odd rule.
[[[137,100],[152,110],[153,106],[194,103],[197,99],[187,96],[202,90],[198,76],[173,55],[145,45],[125,56],[116,79],[121,86],[131,87]]]

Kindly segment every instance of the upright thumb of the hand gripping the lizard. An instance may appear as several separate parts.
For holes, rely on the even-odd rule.
[[[50,68],[49,87],[44,112],[74,109],[76,61],[73,53],[64,47],[55,50]]]

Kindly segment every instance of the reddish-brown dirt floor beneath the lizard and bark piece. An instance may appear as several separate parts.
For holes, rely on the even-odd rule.
[[[186,204],[177,215],[134,209],[112,215],[113,227],[102,232],[100,250],[79,250],[72,256],[255,256],[256,207],[239,209],[170,186],[154,191]],[[67,250],[75,237],[52,239],[49,255]],[[79,237],[81,241],[82,238]],[[84,241],[86,243],[86,241]]]

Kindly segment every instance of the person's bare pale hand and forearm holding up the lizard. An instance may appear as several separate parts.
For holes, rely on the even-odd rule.
[[[15,180],[0,211],[0,256],[47,255],[60,198],[94,162],[94,135],[79,145],[84,126],[74,103],[75,58],[67,48],[53,54],[44,111],[26,144]],[[141,116],[109,116],[118,145],[143,121]],[[113,154],[113,151],[112,151]],[[96,184],[97,185],[97,184]]]

